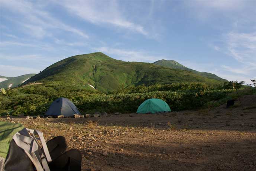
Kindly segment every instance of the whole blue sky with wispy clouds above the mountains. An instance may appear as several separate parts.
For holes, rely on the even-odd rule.
[[[0,75],[77,54],[176,60],[227,80],[256,77],[256,1],[0,0]]]

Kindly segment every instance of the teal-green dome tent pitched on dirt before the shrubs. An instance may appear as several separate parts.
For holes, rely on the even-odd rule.
[[[139,106],[136,113],[162,113],[170,111],[171,109],[165,101],[158,98],[150,98]]]

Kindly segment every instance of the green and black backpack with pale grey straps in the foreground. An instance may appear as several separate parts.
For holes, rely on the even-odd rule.
[[[0,121],[0,171],[81,170],[81,152],[66,150],[65,137],[58,136],[46,143],[38,130]]]

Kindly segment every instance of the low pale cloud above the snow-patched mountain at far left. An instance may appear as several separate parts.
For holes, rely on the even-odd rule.
[[[32,74],[32,73],[38,73],[38,72],[39,72],[39,69],[35,69],[35,68],[17,67],[17,66],[0,64],[1,76],[17,77],[23,74],[28,74],[28,73]]]

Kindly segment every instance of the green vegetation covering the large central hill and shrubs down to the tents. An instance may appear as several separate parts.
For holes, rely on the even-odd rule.
[[[242,87],[238,91],[251,93],[252,87]],[[66,58],[22,86],[0,93],[0,114],[45,114],[59,97],[68,98],[85,113],[135,113],[149,98],[166,101],[172,111],[193,110],[224,104],[229,98],[237,98],[229,96],[233,93],[236,90],[223,88],[223,81],[191,71],[123,62],[98,52]]]

